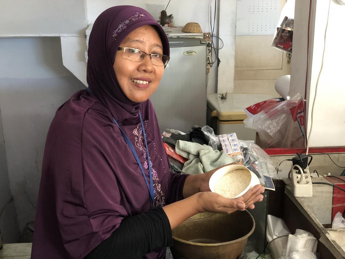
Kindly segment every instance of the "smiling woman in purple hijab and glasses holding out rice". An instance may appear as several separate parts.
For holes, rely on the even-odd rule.
[[[169,172],[148,99],[168,56],[165,33],[145,10],[117,6],[96,19],[89,88],[49,128],[32,259],[164,258],[171,229],[192,215],[252,209],[263,199],[259,185],[236,200],[210,192],[213,171]]]

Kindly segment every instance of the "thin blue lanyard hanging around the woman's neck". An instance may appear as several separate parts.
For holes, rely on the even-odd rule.
[[[91,93],[91,89],[90,87],[87,88],[87,91]],[[150,185],[147,182],[145,173],[144,173],[144,169],[142,169],[139,157],[137,155],[137,152],[134,149],[134,146],[132,145],[132,143],[130,142],[129,138],[127,137],[126,133],[120,128],[119,124],[117,123],[117,121],[115,120],[115,118],[112,118],[114,120],[114,123],[119,127],[122,136],[124,137],[127,145],[129,146],[129,148],[131,149],[135,159],[137,160],[137,163],[140,167],[142,176],[144,176],[144,180],[146,182],[147,185],[147,189],[149,190],[150,193],[150,200],[151,200],[151,208],[154,208],[154,191],[153,191],[153,182],[152,182],[152,171],[151,171],[151,162],[150,162],[150,156],[149,156],[149,148],[147,147],[147,141],[146,141],[146,134],[145,134],[145,128],[144,128],[144,123],[142,122],[142,118],[141,118],[141,114],[139,111],[139,118],[140,118],[140,122],[141,122],[141,127],[142,127],[142,134],[144,135],[144,140],[145,140],[145,145],[146,145],[146,152],[147,152],[147,161],[148,161],[148,166],[149,166],[149,177],[150,177]]]

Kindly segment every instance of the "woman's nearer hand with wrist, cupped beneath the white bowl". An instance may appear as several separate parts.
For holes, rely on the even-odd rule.
[[[230,214],[236,210],[254,209],[254,203],[264,199],[261,194],[264,191],[265,187],[258,184],[236,199],[228,199],[215,192],[199,192],[195,194],[198,195],[196,211]]]

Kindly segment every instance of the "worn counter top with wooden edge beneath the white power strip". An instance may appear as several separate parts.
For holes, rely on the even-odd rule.
[[[335,258],[345,259],[345,229],[328,228],[332,223],[333,187],[322,184],[313,185],[312,197],[295,197],[291,179],[283,180],[286,184],[285,194],[319,232],[318,241],[328,248]],[[328,182],[323,177],[313,178],[312,181]]]

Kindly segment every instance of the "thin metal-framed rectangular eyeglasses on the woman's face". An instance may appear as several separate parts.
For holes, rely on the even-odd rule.
[[[166,66],[168,64],[168,61],[170,59],[169,56],[163,55],[163,54],[158,54],[158,53],[146,53],[144,51],[141,51],[140,49],[134,49],[134,48],[121,48],[119,47],[117,50],[123,51],[124,52],[124,58],[134,61],[134,62],[140,62],[143,60],[146,55],[150,56],[152,65],[155,66]]]

